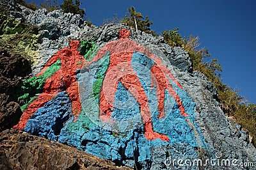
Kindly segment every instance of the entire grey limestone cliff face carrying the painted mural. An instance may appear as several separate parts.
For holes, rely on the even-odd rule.
[[[14,128],[32,135],[13,130],[1,134],[6,167],[90,167],[84,156],[75,159],[67,152],[69,146],[81,155],[85,151],[134,169],[244,169],[249,165],[244,163],[255,164],[248,133],[221,111],[216,88],[205,75],[193,72],[182,48],[122,24],[89,27],[79,15],[61,10],[24,14],[15,1],[8,5],[38,27],[41,42],[38,63],[17,88],[22,116]],[[38,140],[40,147],[22,152],[24,157],[51,146],[58,151],[35,158],[38,164],[32,165],[11,149]],[[49,158],[62,153],[68,154],[65,160],[72,157],[70,162]],[[113,162],[93,165],[107,169]]]

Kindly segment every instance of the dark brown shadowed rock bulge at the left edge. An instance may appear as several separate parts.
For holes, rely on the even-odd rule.
[[[12,128],[19,121],[22,111],[14,90],[29,72],[31,67],[27,59],[0,48],[0,131]]]

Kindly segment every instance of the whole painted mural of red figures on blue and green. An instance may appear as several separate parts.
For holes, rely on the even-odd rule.
[[[175,144],[186,146],[184,158],[198,158],[195,148],[207,145],[195,103],[163,59],[129,35],[120,29],[103,47],[71,40],[56,52],[18,89],[26,103],[15,128],[127,166]]]

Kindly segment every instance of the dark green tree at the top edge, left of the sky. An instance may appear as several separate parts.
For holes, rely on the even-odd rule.
[[[80,5],[81,3],[79,0],[76,0],[75,4],[72,0],[64,0],[63,4],[61,4],[60,7],[65,13],[79,14],[83,17],[86,14],[83,9],[79,8]]]

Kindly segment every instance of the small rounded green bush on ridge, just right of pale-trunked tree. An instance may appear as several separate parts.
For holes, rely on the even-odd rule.
[[[183,38],[179,35],[179,28],[175,27],[172,30],[163,31],[164,41],[171,46],[181,47],[183,45]]]

